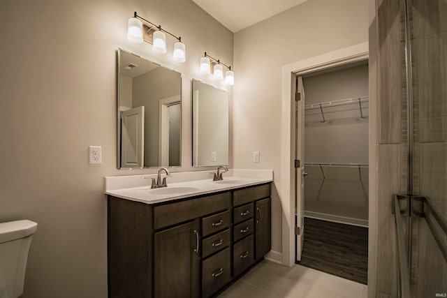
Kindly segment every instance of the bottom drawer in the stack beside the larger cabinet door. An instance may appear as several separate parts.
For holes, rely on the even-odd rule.
[[[211,297],[231,280],[230,248],[202,262],[202,297]]]

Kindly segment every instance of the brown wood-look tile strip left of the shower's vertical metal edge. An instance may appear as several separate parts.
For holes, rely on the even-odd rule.
[[[393,194],[406,193],[406,84],[402,1],[378,0],[376,297],[397,297]]]

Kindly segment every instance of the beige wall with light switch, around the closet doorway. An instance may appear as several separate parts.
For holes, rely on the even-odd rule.
[[[273,169],[279,188],[282,66],[367,40],[367,0],[309,0],[235,33],[234,167]],[[261,152],[260,163],[252,163],[253,151]],[[272,250],[281,253],[276,188]]]

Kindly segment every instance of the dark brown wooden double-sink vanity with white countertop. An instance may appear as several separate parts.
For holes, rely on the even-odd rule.
[[[263,259],[271,179],[223,181],[160,200],[107,192],[109,297],[212,297]]]

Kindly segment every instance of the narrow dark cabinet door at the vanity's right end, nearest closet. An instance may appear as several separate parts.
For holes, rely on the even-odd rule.
[[[256,260],[259,260],[270,251],[271,246],[270,198],[258,200],[255,208],[255,250]]]

